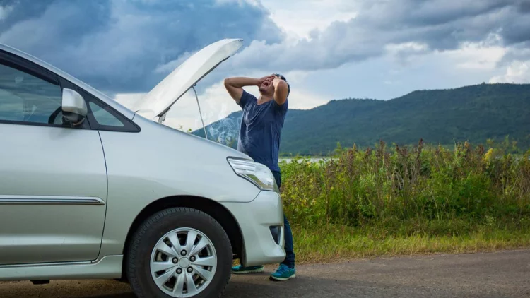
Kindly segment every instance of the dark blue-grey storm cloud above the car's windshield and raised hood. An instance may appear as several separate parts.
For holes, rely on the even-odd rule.
[[[245,1],[2,1],[0,42],[109,93],[143,92],[159,66],[223,38],[280,42],[260,6]]]

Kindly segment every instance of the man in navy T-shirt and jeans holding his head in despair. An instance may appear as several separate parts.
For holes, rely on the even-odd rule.
[[[257,86],[259,98],[243,90],[245,86]],[[240,136],[237,150],[246,153],[254,161],[266,165],[276,179],[278,188],[281,186],[281,172],[278,167],[278,152],[280,149],[280,135],[283,120],[288,110],[287,97],[290,86],[281,75],[265,76],[263,78],[227,78],[225,88],[230,96],[243,109]],[[289,280],[295,278],[295,253],[293,252],[293,234],[287,217],[283,215],[285,226],[285,260],[271,280]],[[263,272],[263,266],[242,267],[235,266],[232,273]]]

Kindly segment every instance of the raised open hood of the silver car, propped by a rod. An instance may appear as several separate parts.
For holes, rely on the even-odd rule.
[[[190,56],[141,98],[134,112],[148,119],[162,117],[175,102],[221,62],[230,58],[243,45],[243,40],[219,40]]]

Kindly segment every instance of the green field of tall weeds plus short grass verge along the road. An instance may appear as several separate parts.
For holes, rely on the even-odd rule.
[[[509,141],[420,141],[282,161],[297,261],[530,246],[529,157]]]

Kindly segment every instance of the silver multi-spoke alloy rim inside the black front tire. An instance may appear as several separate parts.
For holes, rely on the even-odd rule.
[[[216,274],[216,249],[204,233],[182,227],[158,240],[149,267],[155,285],[165,294],[193,297],[204,291]]]

